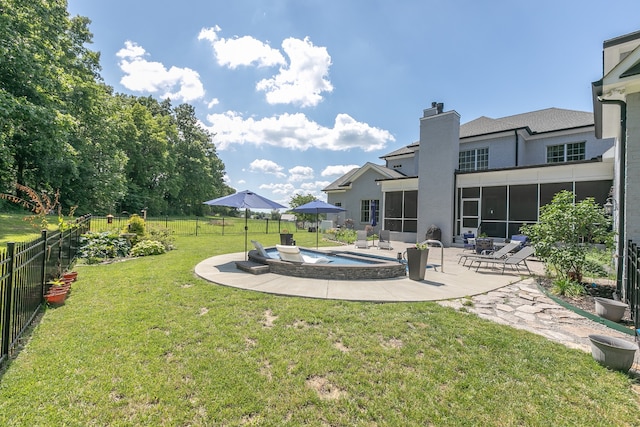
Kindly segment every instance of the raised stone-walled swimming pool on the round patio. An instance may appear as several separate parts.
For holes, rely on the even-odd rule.
[[[249,259],[269,266],[271,273],[284,276],[310,277],[329,280],[366,280],[389,279],[406,275],[406,265],[395,258],[368,255],[350,251],[314,251],[300,249],[300,252],[310,257],[325,257],[328,263],[307,264],[293,263],[280,260],[275,247],[265,248],[268,257],[263,257],[257,251],[249,252]]]

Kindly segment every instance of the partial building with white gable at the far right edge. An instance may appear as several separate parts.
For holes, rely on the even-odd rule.
[[[602,59],[603,77],[592,83],[595,134],[615,139],[610,201],[617,231],[617,286],[628,291],[623,283],[628,270],[626,242],[640,242],[640,168],[635,164],[640,159],[640,31],[605,40]],[[637,319],[640,297],[636,298],[632,309]]]

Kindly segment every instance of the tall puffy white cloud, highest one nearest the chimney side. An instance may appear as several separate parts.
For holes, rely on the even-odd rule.
[[[266,92],[269,104],[318,105],[323,92],[333,91],[328,80],[331,56],[327,48],[314,46],[306,37],[285,39],[282,49],[289,57],[289,66],[281,66],[278,75],[260,80],[256,89]]]

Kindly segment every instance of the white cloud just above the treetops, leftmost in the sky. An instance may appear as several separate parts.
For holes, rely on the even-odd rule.
[[[204,87],[196,71],[174,66],[167,69],[160,62],[147,61],[144,58],[146,51],[137,43],[127,40],[124,46],[116,55],[120,58],[118,65],[125,73],[120,83],[127,89],[183,102],[204,96]]]

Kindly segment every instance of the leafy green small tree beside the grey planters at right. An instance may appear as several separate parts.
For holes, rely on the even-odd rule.
[[[574,203],[570,191],[557,193],[550,204],[540,208],[537,224],[524,225],[536,256],[561,278],[582,281],[586,255],[594,243],[613,244],[611,218],[592,197]]]

